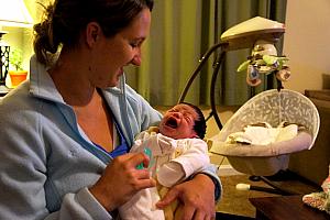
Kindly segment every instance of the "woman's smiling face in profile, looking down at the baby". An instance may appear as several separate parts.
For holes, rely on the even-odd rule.
[[[101,88],[117,86],[123,67],[133,64],[141,65],[141,46],[150,32],[151,12],[144,9],[132,21],[131,25],[123,29],[113,37],[102,36],[98,45],[98,64],[95,65],[97,77],[92,76],[95,85]]]

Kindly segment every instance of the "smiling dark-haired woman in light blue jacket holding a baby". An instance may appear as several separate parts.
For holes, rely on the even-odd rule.
[[[155,186],[129,152],[161,116],[124,82],[141,64],[152,0],[55,0],[34,26],[30,81],[0,106],[0,219],[112,219]],[[61,53],[57,56],[57,51]],[[215,217],[215,172],[174,187],[184,219]]]

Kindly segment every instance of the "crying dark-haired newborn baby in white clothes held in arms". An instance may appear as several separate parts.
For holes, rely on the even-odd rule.
[[[119,209],[121,219],[175,219],[177,202],[165,210],[156,209],[155,204],[169,187],[209,165],[205,133],[206,121],[200,109],[183,102],[166,111],[158,129],[151,128],[136,136],[131,152],[147,150],[151,157],[147,168],[157,187],[143,189],[124,204]]]

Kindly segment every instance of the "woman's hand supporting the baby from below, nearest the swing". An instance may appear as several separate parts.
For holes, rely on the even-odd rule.
[[[215,184],[205,174],[197,174],[191,180],[174,186],[166,196],[156,204],[163,209],[178,199],[183,220],[216,219]]]

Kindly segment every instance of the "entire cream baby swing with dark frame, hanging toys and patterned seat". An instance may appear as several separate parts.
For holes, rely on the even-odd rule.
[[[217,48],[220,48],[220,54],[213,65],[210,87],[210,117],[215,118],[220,133],[208,140],[211,145],[210,153],[226,156],[238,172],[257,177],[272,176],[279,170],[285,170],[292,153],[312,147],[320,125],[319,113],[315,105],[304,95],[284,89],[282,86],[282,81],[289,78],[290,72],[285,65],[287,58],[277,56],[274,43],[278,41],[284,30],[284,24],[260,16],[229,29],[221,35],[221,42],[215,44],[202,56],[178,100],[178,102],[184,100],[202,65]],[[277,89],[266,90],[251,98],[222,128],[215,103],[217,75],[226,52],[249,47],[253,47],[252,55],[238,69],[239,72],[246,70],[246,82],[250,86],[257,86],[261,82],[260,74],[275,74],[278,86]],[[261,122],[272,128],[278,127],[282,122],[288,122],[302,125],[305,129],[297,131],[294,138],[263,145],[227,141],[230,134],[243,131],[246,125]],[[278,193],[280,191],[279,189]]]

